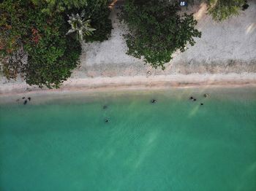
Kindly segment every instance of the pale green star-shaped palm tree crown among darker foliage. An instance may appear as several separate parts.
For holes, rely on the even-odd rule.
[[[81,15],[77,13],[76,15],[71,14],[71,16],[67,16],[69,17],[67,22],[70,24],[71,28],[66,35],[77,32],[77,36],[80,42],[83,41],[84,36],[91,36],[93,31],[96,30],[95,28],[91,28],[91,20],[86,20],[84,10],[81,12]]]

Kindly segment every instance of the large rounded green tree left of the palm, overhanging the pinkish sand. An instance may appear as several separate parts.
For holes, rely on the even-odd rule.
[[[59,87],[77,66],[80,43],[66,36],[69,25],[63,15],[53,14],[47,22],[40,19],[43,15],[29,15],[27,20],[36,28],[24,47],[29,55],[25,79],[29,85]]]

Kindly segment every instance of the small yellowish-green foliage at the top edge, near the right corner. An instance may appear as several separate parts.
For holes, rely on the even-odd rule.
[[[238,15],[241,9],[248,6],[245,0],[207,0],[207,4],[208,13],[218,22]]]

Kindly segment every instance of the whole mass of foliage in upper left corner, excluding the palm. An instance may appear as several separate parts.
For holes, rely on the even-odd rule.
[[[97,4],[98,11],[107,7],[106,2],[103,4],[105,0],[97,2],[99,1],[102,4]],[[88,6],[93,0],[54,1],[56,5],[66,5],[65,10],[53,6],[50,7],[49,14],[45,9],[49,8],[50,2],[53,1],[6,0],[0,4],[0,63],[7,79],[15,79],[20,74],[29,85],[59,87],[77,66],[80,42],[66,35],[70,28],[67,14],[72,10],[81,12],[83,8],[89,9],[79,7],[75,2],[86,2]],[[93,14],[91,12],[87,16],[97,20],[98,15]],[[106,21],[108,17],[102,20]],[[109,26],[108,21],[105,27],[103,22],[94,22],[95,26],[102,28],[95,28],[99,33],[92,35],[89,40],[107,39],[112,28],[111,23]]]

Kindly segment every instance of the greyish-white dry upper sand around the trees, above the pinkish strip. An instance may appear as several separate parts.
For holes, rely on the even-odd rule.
[[[194,0],[196,1],[196,0]],[[197,28],[202,37],[195,39],[195,46],[188,46],[185,52],[176,52],[165,71],[154,70],[142,60],[126,54],[127,45],[122,34],[126,26],[116,18],[118,10],[113,9],[112,36],[103,43],[83,46],[78,77],[115,77],[144,75],[151,70],[154,74],[219,74],[256,72],[256,1],[248,1],[249,8],[238,17],[231,17],[217,23],[206,15],[206,5],[196,3],[187,12],[193,12]],[[186,11],[186,9],[183,9]]]

